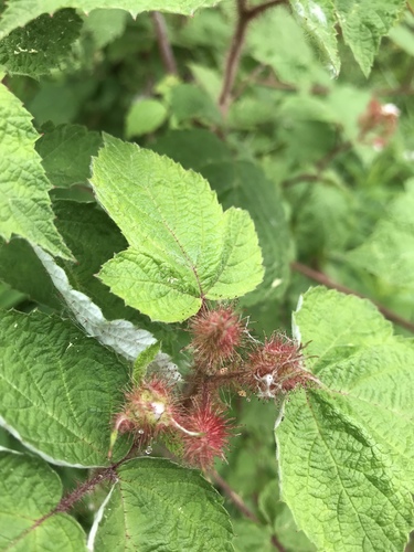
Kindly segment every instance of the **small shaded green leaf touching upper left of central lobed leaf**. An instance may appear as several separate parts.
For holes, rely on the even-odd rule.
[[[83,184],[91,177],[91,158],[102,145],[98,132],[81,125],[44,125],[36,141],[46,177],[54,187]]]

